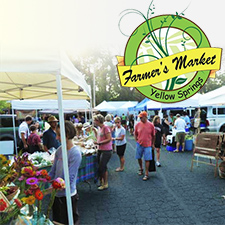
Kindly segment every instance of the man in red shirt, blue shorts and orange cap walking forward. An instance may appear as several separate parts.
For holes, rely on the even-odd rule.
[[[149,161],[152,160],[152,150],[155,148],[155,128],[148,121],[147,112],[143,111],[139,114],[140,122],[137,123],[134,130],[134,138],[137,142],[136,159],[140,166],[139,175],[143,175],[142,156],[145,160],[145,176],[143,180],[148,180]]]

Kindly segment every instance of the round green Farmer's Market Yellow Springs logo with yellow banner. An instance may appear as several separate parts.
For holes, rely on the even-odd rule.
[[[175,103],[215,78],[222,49],[212,48],[201,28],[183,15],[143,16],[145,22],[130,36],[124,57],[118,57],[122,86],[135,87],[154,101]]]

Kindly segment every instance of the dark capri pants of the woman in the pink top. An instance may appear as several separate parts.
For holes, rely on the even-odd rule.
[[[97,161],[98,161],[98,175],[100,178],[103,177],[107,171],[107,164],[112,156],[112,150],[98,150]]]

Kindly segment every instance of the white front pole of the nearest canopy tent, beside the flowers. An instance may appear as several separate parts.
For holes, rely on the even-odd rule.
[[[58,107],[59,107],[59,122],[60,122],[60,136],[62,144],[62,157],[63,157],[63,171],[66,183],[66,203],[68,211],[68,221],[69,225],[73,225],[73,213],[72,213],[72,202],[71,202],[71,192],[70,192],[70,180],[69,180],[69,170],[68,170],[68,157],[66,148],[66,135],[65,135],[65,121],[63,116],[63,105],[62,105],[62,83],[61,74],[56,74],[56,84],[57,84],[57,95],[58,95]]]

